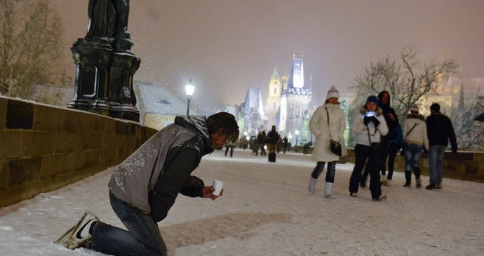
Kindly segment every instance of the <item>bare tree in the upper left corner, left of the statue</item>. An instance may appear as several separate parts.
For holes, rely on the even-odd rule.
[[[50,1],[0,0],[0,95],[29,99],[36,84],[62,77],[61,39]]]

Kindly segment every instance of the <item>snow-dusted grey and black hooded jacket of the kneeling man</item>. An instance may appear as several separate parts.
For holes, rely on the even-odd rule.
[[[203,181],[191,176],[210,147],[205,116],[177,116],[123,161],[109,181],[109,190],[159,222],[168,215],[178,193],[203,196]]]

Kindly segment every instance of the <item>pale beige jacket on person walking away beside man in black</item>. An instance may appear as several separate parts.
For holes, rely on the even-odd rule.
[[[415,124],[417,125],[415,126]],[[413,126],[415,128],[410,131]],[[410,133],[408,133],[409,131]],[[427,137],[427,126],[424,116],[409,114],[403,122],[403,135],[405,136],[405,143],[419,144],[424,146],[424,149],[429,150],[429,138]]]

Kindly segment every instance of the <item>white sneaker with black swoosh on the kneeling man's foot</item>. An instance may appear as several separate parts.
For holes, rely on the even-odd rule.
[[[99,218],[86,211],[77,224],[70,228],[65,234],[60,236],[54,243],[60,243],[62,246],[74,250],[79,245],[85,244],[90,240],[89,229],[93,222],[98,222]]]

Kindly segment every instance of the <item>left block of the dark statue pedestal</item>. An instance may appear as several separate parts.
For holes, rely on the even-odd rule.
[[[78,39],[71,50],[76,62],[76,82],[74,98],[67,107],[109,116],[106,93],[112,47]]]

